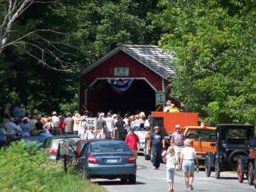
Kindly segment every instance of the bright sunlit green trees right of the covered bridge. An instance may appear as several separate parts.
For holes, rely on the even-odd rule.
[[[255,3],[166,1],[151,14],[176,56],[172,95],[210,122],[255,123]]]

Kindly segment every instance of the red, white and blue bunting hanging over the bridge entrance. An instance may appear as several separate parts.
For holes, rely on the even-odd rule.
[[[107,82],[110,83],[114,92],[117,92],[118,94],[122,94],[125,91],[127,91],[129,87],[131,87],[133,81],[134,81],[134,78],[132,79],[112,78],[107,80]]]

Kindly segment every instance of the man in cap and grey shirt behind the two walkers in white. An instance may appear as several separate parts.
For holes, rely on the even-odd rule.
[[[176,162],[179,165],[181,150],[184,147],[183,142],[186,138],[184,137],[183,132],[181,132],[181,126],[179,124],[176,124],[175,129],[176,132],[171,135],[171,146],[174,147]],[[178,168],[176,170],[178,171]]]

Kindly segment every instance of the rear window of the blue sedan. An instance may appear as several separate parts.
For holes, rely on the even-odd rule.
[[[92,143],[90,145],[91,152],[119,152],[129,151],[129,146],[125,143]]]

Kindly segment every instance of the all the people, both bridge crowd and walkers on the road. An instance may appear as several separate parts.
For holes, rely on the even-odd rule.
[[[168,100],[164,112],[179,112],[179,110]],[[52,112],[51,115],[29,115],[22,104],[14,107],[13,110],[11,110],[11,104],[7,104],[4,110],[4,119],[1,119],[0,122],[0,147],[22,137],[38,136],[43,133],[49,135],[78,134],[81,139],[123,140],[137,158],[140,144],[139,137],[134,131],[150,129],[150,115],[146,117],[144,112],[137,112],[134,115],[127,113],[122,116],[122,114],[115,114],[111,110],[107,114],[98,112],[96,130],[95,127],[88,127],[85,123],[86,119],[90,117],[92,114],[88,111],[85,111],[84,114],[75,111],[66,114]],[[181,127],[176,124],[175,128],[176,132],[171,135],[171,146],[164,150],[166,149],[164,136],[159,132],[158,126],[154,127],[148,145],[152,154],[152,167],[157,170],[161,159],[166,162],[166,181],[169,191],[174,191],[175,171],[182,169],[186,188],[188,191],[193,190],[195,164],[198,168],[196,151],[190,146],[190,141],[183,136]]]

